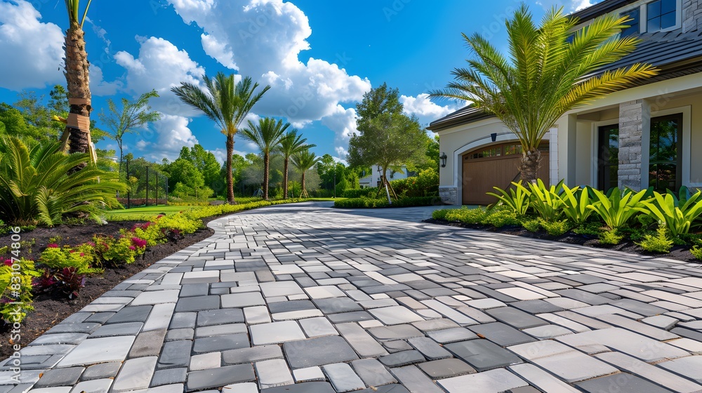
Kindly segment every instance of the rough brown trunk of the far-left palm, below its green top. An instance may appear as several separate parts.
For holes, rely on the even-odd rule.
[[[65,76],[71,105],[70,114],[85,116],[88,119],[81,123],[90,124],[90,113],[93,108],[91,107],[88,53],[86,53],[85,33],[77,22],[72,22],[71,27],[66,31],[65,50]],[[69,121],[64,132],[69,135],[69,153],[90,152],[89,126],[76,128],[71,126]],[[83,163],[79,168],[84,168],[86,165],[87,163]]]

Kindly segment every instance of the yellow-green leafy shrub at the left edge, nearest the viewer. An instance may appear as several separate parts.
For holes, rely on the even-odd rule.
[[[32,312],[32,280],[39,277],[32,260],[2,258],[0,265],[0,317],[20,323]],[[18,304],[11,304],[17,302]]]

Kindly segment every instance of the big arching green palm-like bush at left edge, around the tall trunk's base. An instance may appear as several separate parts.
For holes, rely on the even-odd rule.
[[[17,138],[4,140],[0,153],[0,219],[55,225],[67,214],[88,214],[96,220],[102,206],[119,206],[115,192],[125,187],[114,173],[87,166],[71,171],[87,154],[57,152],[45,142],[31,150]]]

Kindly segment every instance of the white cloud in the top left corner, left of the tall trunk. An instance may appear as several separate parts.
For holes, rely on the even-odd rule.
[[[0,2],[0,87],[14,91],[65,81],[60,27],[39,22],[41,13],[24,0]]]

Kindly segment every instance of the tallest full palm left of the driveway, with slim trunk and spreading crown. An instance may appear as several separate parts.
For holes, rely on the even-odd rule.
[[[249,76],[234,84],[234,74],[226,76],[222,72],[218,72],[214,79],[205,76],[203,80],[207,91],[185,82],[182,82],[180,87],[171,88],[171,91],[187,105],[203,112],[222,129],[224,135],[227,135],[227,201],[233,204],[234,135],[239,131],[241,121],[244,121],[244,117],[270,86],[265,86],[256,93],[258,84],[253,84]]]

